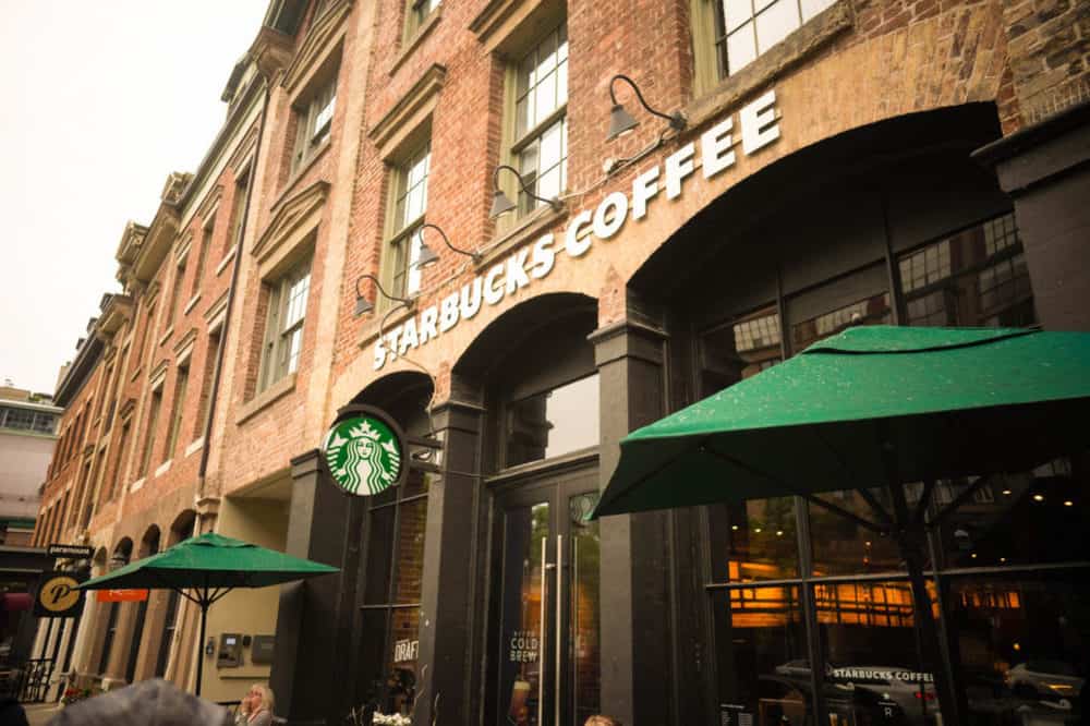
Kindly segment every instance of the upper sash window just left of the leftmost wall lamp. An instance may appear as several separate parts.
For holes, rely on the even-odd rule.
[[[303,349],[303,318],[311,290],[311,261],[300,263],[269,283],[261,389],[294,373]]]

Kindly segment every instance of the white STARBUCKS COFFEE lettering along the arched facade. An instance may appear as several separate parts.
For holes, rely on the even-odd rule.
[[[742,154],[749,156],[779,138],[776,116],[776,92],[770,90],[738,112]],[[699,148],[699,154],[698,154]],[[388,330],[375,341],[375,370],[404,355],[429,340],[453,328],[460,320],[468,320],[481,310],[482,304],[496,305],[506,295],[516,293],[553,271],[556,256],[564,252],[569,257],[585,255],[595,240],[606,241],[621,230],[632,218],[643,219],[649,205],[659,194],[667,199],[681,196],[685,182],[697,173],[700,159],[701,176],[712,179],[735,165],[735,119],[729,116],[700,136],[666,157],[663,167],[647,169],[634,180],[630,193],[613,192],[591,211],[583,209],[568,222],[564,240],[550,232],[541,237],[506,261],[492,266],[458,292],[438,305],[424,308]]]

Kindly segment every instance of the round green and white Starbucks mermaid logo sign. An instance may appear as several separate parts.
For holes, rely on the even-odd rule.
[[[349,494],[372,496],[401,481],[401,438],[382,418],[341,419],[323,443],[334,481]]]

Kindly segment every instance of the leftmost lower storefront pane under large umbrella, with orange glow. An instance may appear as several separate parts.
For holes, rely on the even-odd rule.
[[[719,723],[813,723],[798,588],[712,594]]]

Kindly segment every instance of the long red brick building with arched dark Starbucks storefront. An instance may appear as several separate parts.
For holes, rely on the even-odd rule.
[[[629,431],[848,325],[1090,329],[1088,22],[1068,0],[271,3],[208,156],[119,249],[92,449],[119,461],[47,485],[43,521],[89,511],[66,532],[99,571],[215,529],[342,573],[232,594],[208,644],[162,593],[95,604],[76,670],[190,682],[204,657],[206,695],[267,674],[290,723],[922,724],[935,681],[944,722],[1081,709],[1085,451],[936,529],[941,663],[891,543],[802,499],[585,515]],[[332,484],[348,404],[410,437],[403,484]],[[221,663],[274,632],[270,671]]]

